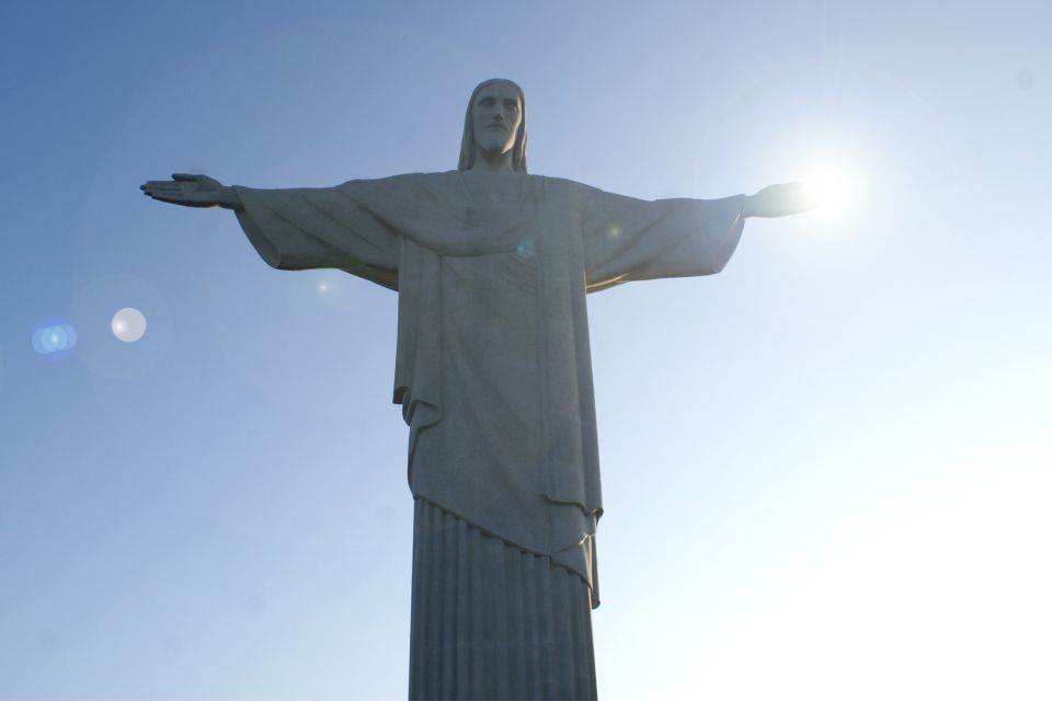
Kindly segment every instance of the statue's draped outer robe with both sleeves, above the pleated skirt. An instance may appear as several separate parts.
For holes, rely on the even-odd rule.
[[[719,272],[744,197],[645,202],[473,171],[235,191],[270,265],[398,291],[393,399],[413,495],[578,573],[598,606],[585,294]]]

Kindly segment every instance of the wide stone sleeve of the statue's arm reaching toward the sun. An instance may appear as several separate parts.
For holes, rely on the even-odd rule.
[[[588,188],[583,207],[585,284],[719,273],[742,235],[744,195],[648,202]]]

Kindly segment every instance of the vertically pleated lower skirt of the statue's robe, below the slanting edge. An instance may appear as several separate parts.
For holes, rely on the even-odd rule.
[[[595,699],[587,582],[415,497],[410,699]]]

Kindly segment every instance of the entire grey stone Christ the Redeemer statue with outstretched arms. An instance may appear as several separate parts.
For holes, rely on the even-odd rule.
[[[526,101],[471,93],[460,163],[335,187],[142,185],[225,207],[264,261],[398,291],[395,403],[415,499],[411,699],[594,699],[603,503],[585,294],[723,268],[800,185],[645,202],[526,174]]]

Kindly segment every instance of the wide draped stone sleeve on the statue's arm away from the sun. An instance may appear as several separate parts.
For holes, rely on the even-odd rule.
[[[260,256],[284,271],[340,268],[398,289],[399,232],[370,207],[398,198],[398,179],[338,187],[256,189],[235,186],[241,228]]]

